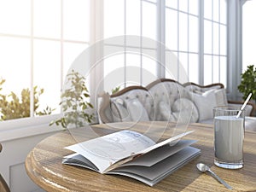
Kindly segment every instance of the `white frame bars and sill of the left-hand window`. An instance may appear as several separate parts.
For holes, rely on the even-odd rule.
[[[33,2],[33,0],[31,1]],[[79,44],[93,44],[93,42],[96,42],[96,36],[90,37],[90,42],[83,42],[83,41],[70,41],[63,39],[63,1],[61,0],[61,39],[55,39],[55,38],[40,38],[40,37],[34,37],[33,35],[33,21],[31,20],[31,34],[29,37],[26,36],[19,36],[19,35],[12,35],[12,34],[3,34],[0,33],[0,36],[3,37],[15,37],[15,38],[30,38],[31,39],[31,46],[33,47],[33,40],[34,39],[43,39],[43,40],[50,40],[50,41],[58,41],[61,42],[61,88],[62,84],[64,82],[64,74],[63,74],[63,44],[68,43],[79,43]],[[90,0],[90,18],[91,20],[96,20],[98,18],[96,15],[96,12],[99,13],[101,9],[97,9],[96,6],[99,4],[102,4],[102,0]],[[99,6],[100,8],[100,6]],[[31,9],[31,15],[33,15],[33,9]],[[96,18],[96,19],[95,19]],[[96,31],[96,27],[91,27],[90,33],[94,34]],[[31,50],[31,52],[33,49]],[[33,57],[33,55],[32,55]],[[31,90],[31,98],[33,100],[33,58],[31,58],[31,84],[30,84],[30,90]],[[91,87],[91,86],[90,86]],[[31,137],[36,136],[44,133],[49,132],[55,132],[55,131],[61,131],[61,126],[57,125],[51,125],[49,126],[49,123],[54,119],[61,118],[61,113],[57,114],[50,114],[50,115],[44,115],[44,116],[37,116],[34,117],[33,115],[33,101],[31,100],[31,117],[28,118],[21,118],[21,119],[10,119],[5,121],[0,121],[0,142],[3,141],[9,141],[21,137]]]

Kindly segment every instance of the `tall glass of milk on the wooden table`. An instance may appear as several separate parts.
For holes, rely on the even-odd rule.
[[[214,164],[227,169],[243,166],[244,111],[224,106],[213,108],[214,115]]]

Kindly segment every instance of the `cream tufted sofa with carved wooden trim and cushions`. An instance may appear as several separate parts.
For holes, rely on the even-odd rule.
[[[146,87],[130,86],[113,95],[102,93],[98,112],[101,123],[158,120],[212,124],[212,108],[241,104],[228,102],[223,84],[201,86],[158,79]],[[247,105],[245,111],[250,116],[253,105]],[[246,128],[256,130],[256,118],[247,119]]]

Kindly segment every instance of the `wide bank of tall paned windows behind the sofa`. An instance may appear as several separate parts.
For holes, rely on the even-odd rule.
[[[148,37],[165,44],[164,53],[156,47],[151,48],[151,54],[160,58],[166,70],[161,72],[159,63],[143,55],[118,54],[105,59],[105,77],[116,67],[123,68],[122,73],[119,73],[119,82],[129,82],[129,71],[125,68],[131,65],[150,68],[155,78],[177,79],[181,83],[193,81],[198,84],[227,84],[225,0],[106,0],[104,38],[119,35]],[[109,46],[113,48],[115,45]],[[125,45],[122,51],[125,52],[126,48]],[[139,53],[145,46],[140,44],[137,49]],[[177,61],[173,61],[174,56]],[[149,83],[149,80],[143,81],[143,73],[133,71],[132,75],[137,75],[137,84]],[[108,83],[106,81],[105,87]],[[122,85],[126,86],[126,83]]]

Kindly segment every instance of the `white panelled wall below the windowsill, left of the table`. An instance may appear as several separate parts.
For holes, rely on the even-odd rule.
[[[43,192],[38,185],[27,176],[25,169],[26,155],[45,137],[55,132],[22,137],[2,142],[3,151],[0,154],[0,172],[9,184],[11,192]]]

